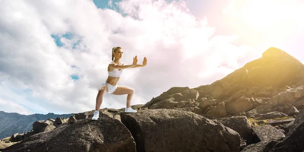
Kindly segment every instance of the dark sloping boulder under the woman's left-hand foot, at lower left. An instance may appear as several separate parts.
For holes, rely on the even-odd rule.
[[[5,151],[135,151],[129,130],[118,120],[101,114],[100,121],[83,119],[34,134]]]

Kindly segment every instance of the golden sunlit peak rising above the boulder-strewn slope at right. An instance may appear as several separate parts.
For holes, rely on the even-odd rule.
[[[276,90],[290,84],[297,84],[301,80],[300,73],[303,69],[303,64],[296,58],[280,49],[269,48],[261,58],[248,62],[242,68],[211,85],[204,86],[204,90],[216,99],[231,97],[251,87],[265,89],[271,87]],[[270,96],[270,91],[256,92],[256,94]]]

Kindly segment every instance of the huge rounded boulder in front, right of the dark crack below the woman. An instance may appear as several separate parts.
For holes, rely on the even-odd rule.
[[[239,151],[241,139],[234,130],[193,112],[148,109],[121,113],[131,131],[136,151]]]

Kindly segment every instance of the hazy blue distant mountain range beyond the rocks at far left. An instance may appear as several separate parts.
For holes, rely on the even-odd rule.
[[[33,115],[20,115],[19,113],[8,113],[0,111],[0,139],[12,136],[15,133],[24,133],[26,131],[32,130],[32,124],[35,121],[56,119],[59,118],[69,118],[73,113],[55,115],[54,113],[43,114],[33,114]]]

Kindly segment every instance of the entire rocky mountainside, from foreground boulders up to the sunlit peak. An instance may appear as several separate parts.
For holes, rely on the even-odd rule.
[[[209,85],[172,87],[137,113],[36,121],[5,151],[303,151],[304,65],[278,48]],[[54,146],[56,145],[56,146]]]

